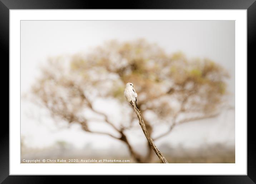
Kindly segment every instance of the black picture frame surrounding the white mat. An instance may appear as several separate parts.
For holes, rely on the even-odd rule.
[[[256,1],[255,0],[148,0],[148,1],[89,1],[89,0],[0,0],[0,52],[2,58],[2,67],[9,68],[9,65],[3,65],[9,61],[9,10],[11,9],[247,9],[247,61],[253,62],[256,58],[254,50],[256,43]],[[247,62],[248,63],[248,62]],[[7,65],[7,64],[6,64]],[[253,67],[247,67],[247,78],[251,78],[248,73],[252,73]],[[1,73],[2,86],[8,86],[9,93],[9,80],[5,80],[6,72],[3,70]],[[249,72],[250,71],[250,72]],[[247,98],[250,96],[250,103],[255,102],[255,85],[247,87]],[[7,96],[3,87],[1,90],[2,98]],[[9,97],[10,100],[10,97]],[[7,98],[2,99],[3,102]],[[9,105],[8,105],[9,107]],[[248,112],[254,111],[255,108],[248,109]],[[9,108],[4,106],[2,108],[3,117],[9,114]],[[9,117],[8,117],[9,119]],[[246,123],[246,122],[241,122]],[[253,129],[253,121],[247,121],[247,175],[209,175],[209,176],[171,176],[178,179],[183,183],[256,183],[256,141],[254,137],[255,130]],[[7,121],[1,122],[0,128],[0,183],[49,183],[53,181],[53,176],[21,176],[9,175],[9,125]],[[58,182],[73,183],[73,179],[67,176],[54,176]],[[88,177],[89,176],[85,176]],[[92,176],[90,176],[92,177]],[[93,179],[93,178],[90,178]],[[151,177],[148,179],[152,180]],[[125,179],[128,182],[133,182],[130,177]],[[104,182],[105,183],[105,182]]]

